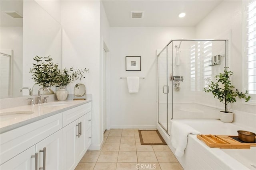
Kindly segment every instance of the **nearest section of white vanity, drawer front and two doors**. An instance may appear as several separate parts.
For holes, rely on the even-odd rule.
[[[35,170],[36,164],[39,169],[43,167],[44,162],[47,170],[60,170],[62,168],[61,129],[62,113],[58,113],[2,133],[0,169]],[[45,154],[40,152],[44,148],[47,149]]]

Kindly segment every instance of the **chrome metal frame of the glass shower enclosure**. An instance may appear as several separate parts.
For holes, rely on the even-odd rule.
[[[228,39],[172,39],[172,40],[170,40],[168,43],[167,43],[167,45],[157,54],[156,53],[156,75],[157,75],[157,106],[156,106],[156,108],[157,108],[157,117],[158,117],[158,119],[157,119],[157,123],[162,127],[162,129],[170,136],[170,134],[169,134],[169,132],[168,132],[168,125],[169,125],[169,121],[168,121],[168,119],[169,119],[169,117],[168,117],[168,95],[167,95],[167,128],[165,129],[162,125],[161,125],[161,123],[159,122],[159,79],[158,79],[158,57],[160,56],[160,54],[166,49],[166,61],[168,62],[168,45],[170,45],[170,43],[172,43],[173,41],[225,41],[225,66],[227,66],[227,64],[228,64],[228,59],[227,59],[227,56],[228,56],[228,48],[227,48],[227,46],[228,46]],[[173,46],[173,45],[172,45]],[[172,61],[173,61],[173,47],[172,47]],[[166,63],[167,64],[167,70],[168,70],[168,63]],[[172,68],[173,69],[173,68]],[[172,70],[173,71],[173,70]],[[166,77],[167,79],[168,79],[168,73],[167,73],[167,77]],[[168,86],[168,83],[167,83],[167,86]],[[173,96],[172,96],[172,98],[173,98]],[[172,105],[173,105],[173,103],[172,103]],[[173,119],[173,108],[172,108],[172,118],[171,119]]]

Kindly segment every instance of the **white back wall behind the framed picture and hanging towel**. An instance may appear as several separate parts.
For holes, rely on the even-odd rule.
[[[156,49],[194,35],[194,27],[110,27],[111,128],[156,128]],[[126,56],[141,56],[141,71],[126,71]],[[128,93],[127,76],[145,77],[138,93]]]

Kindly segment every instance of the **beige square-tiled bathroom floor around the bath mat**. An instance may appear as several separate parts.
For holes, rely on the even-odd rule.
[[[75,170],[183,170],[167,145],[140,145],[138,129],[110,129],[101,150],[88,150]]]

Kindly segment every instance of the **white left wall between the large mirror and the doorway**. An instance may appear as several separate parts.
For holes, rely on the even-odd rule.
[[[100,1],[62,1],[62,67],[90,68],[82,82],[92,94],[92,146],[100,149]],[[74,82],[68,92],[74,93]]]

